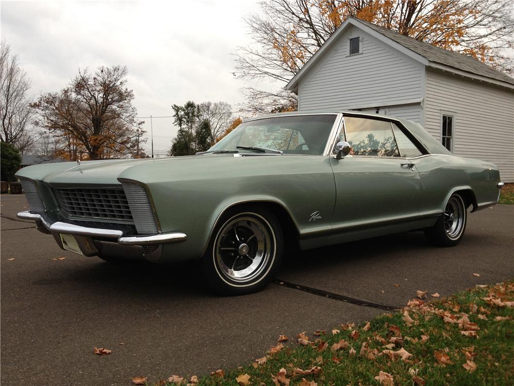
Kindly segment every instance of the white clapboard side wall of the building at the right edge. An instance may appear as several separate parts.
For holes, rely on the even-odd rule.
[[[440,138],[442,111],[455,113],[454,154],[490,161],[514,182],[514,91],[427,69],[425,127]]]

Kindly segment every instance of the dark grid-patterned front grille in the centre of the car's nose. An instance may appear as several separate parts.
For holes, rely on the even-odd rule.
[[[54,189],[61,212],[70,217],[134,223],[123,188]]]

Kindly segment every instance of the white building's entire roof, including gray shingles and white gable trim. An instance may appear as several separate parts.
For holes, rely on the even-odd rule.
[[[503,84],[512,88],[514,79],[510,76],[494,69],[491,66],[481,62],[468,55],[458,54],[444,48],[433,46],[429,43],[420,42],[414,38],[402,35],[387,28],[382,28],[376,24],[366,22],[356,17],[348,17],[339,28],[332,34],[330,38],[321,46],[300,71],[286,85],[287,90],[296,90],[298,81],[307,72],[308,68],[323,55],[323,52],[337,40],[337,37],[346,29],[348,25],[355,25],[366,32],[371,33],[381,41],[400,49],[402,52],[425,65],[431,65],[437,68],[444,68],[451,71],[452,68],[460,71],[460,74],[473,77],[472,74],[480,78],[489,78],[493,83]],[[384,39],[387,38],[387,39]],[[448,68],[450,67],[450,68]],[[507,84],[505,84],[507,83]]]

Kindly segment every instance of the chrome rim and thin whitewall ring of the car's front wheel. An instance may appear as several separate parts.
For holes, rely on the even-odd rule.
[[[243,249],[244,252],[243,244],[246,244],[248,247],[248,244],[253,242],[250,239],[253,238],[257,239],[255,242],[258,248],[253,256],[249,256],[251,263],[243,270],[236,271],[232,269],[232,267],[235,266],[236,261],[233,262],[232,267],[229,267],[226,262],[223,261],[220,252],[222,249],[227,250],[228,248],[223,248],[221,246],[221,241],[222,237],[230,232],[234,225],[238,225],[244,221],[250,222],[253,227],[254,234],[249,237],[246,242],[244,242],[244,240],[240,240],[239,236],[236,236],[236,242],[241,242],[241,244],[235,245],[234,250],[238,253]],[[247,223],[245,226],[249,227],[250,225]],[[234,287],[247,287],[259,283],[264,277],[266,277],[273,265],[275,254],[276,237],[269,222],[259,214],[245,212],[231,217],[220,227],[216,234],[216,238],[214,239],[212,257],[216,272],[225,283]]]

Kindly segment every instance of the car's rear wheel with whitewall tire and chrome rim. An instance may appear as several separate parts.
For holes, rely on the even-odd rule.
[[[434,226],[425,230],[425,236],[439,247],[454,247],[466,230],[467,212],[464,200],[458,194],[453,194],[446,203],[442,216]]]

